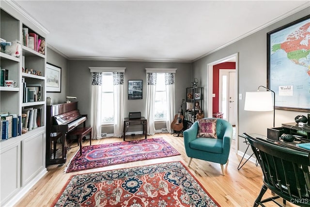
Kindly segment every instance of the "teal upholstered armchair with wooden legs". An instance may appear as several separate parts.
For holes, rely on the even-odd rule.
[[[233,126],[224,119],[217,119],[216,130],[217,139],[197,138],[198,121],[196,121],[183,132],[186,155],[190,158],[188,167],[193,158],[216,162],[221,165],[222,174],[225,175],[223,165],[228,161],[233,137]]]

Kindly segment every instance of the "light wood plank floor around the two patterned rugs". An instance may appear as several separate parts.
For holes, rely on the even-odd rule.
[[[96,168],[87,171],[80,171],[74,173],[64,174],[64,168],[68,161],[73,157],[78,147],[72,148],[67,153],[67,163],[59,167],[58,165],[50,165],[47,167],[47,174],[40,179],[35,186],[16,204],[18,207],[47,207],[51,206],[57,195],[62,191],[66,185],[67,180],[71,175],[106,171],[111,169],[127,168],[134,166],[141,166],[147,164],[181,161],[184,164],[188,163],[189,158],[186,156],[183,137],[175,137],[169,133],[159,133],[148,138],[162,137],[176,148],[181,155],[150,159],[144,161],[137,161],[125,163],[120,165],[112,165],[102,168]],[[126,136],[126,141],[143,139],[143,135]],[[121,142],[121,138],[104,138],[101,140],[92,140],[92,144],[115,143]],[[84,141],[83,145],[89,145],[89,141]],[[229,163],[224,165],[226,175],[221,174],[220,165],[217,163],[207,162],[199,159],[193,159],[189,171],[199,180],[203,187],[208,191],[214,200],[222,207],[250,207],[259,194],[262,187],[262,173],[260,167],[256,167],[254,163],[247,162],[243,168],[238,171],[237,166],[241,157],[235,154],[234,143],[229,157]],[[264,197],[271,196],[271,192],[267,191]],[[267,203],[266,206],[276,206],[272,202]],[[286,206],[290,206],[287,204]],[[293,205],[291,205],[293,206]]]

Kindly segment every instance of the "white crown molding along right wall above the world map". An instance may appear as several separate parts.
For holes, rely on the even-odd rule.
[[[291,16],[291,15],[293,15],[293,14],[295,14],[295,13],[297,13],[297,12],[303,10],[303,9],[306,9],[307,7],[310,7],[310,1],[300,5],[299,7],[296,7],[295,9],[292,9],[291,11],[285,13],[284,15],[281,15],[281,16],[279,16],[279,17],[277,17],[277,18],[275,18],[275,19],[273,19],[273,20],[271,20],[271,21],[261,25],[260,27],[255,28],[254,30],[251,30],[251,31],[249,31],[249,32],[247,32],[247,33],[245,33],[245,34],[243,34],[243,35],[233,39],[232,41],[229,41],[228,43],[226,43],[226,44],[224,44],[224,45],[222,45],[222,46],[220,46],[220,47],[218,47],[216,49],[213,49],[213,50],[203,54],[202,56],[192,60],[191,63],[193,63],[193,62],[195,62],[195,61],[197,61],[199,59],[202,59],[203,57],[208,56],[208,55],[216,52],[217,50],[225,48],[225,47],[227,47],[227,46],[229,46],[229,45],[231,45],[231,44],[233,44],[233,43],[235,43],[235,42],[237,42],[237,41],[239,41],[239,40],[241,40],[241,39],[243,39],[243,38],[245,38],[245,37],[247,37],[247,36],[249,36],[249,35],[251,35],[251,34],[253,34],[255,32],[258,32],[258,31],[260,31],[260,30],[262,30],[262,29],[264,29],[264,28],[266,28],[266,27],[268,27],[268,26],[270,26],[270,25],[272,25],[272,24],[274,24],[274,23],[276,23],[276,22],[278,22],[278,21],[288,17],[288,16]]]

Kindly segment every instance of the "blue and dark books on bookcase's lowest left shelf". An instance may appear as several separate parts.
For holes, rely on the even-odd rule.
[[[9,114],[9,112],[0,112],[0,139],[7,140],[11,137],[21,135],[21,116],[18,114]]]

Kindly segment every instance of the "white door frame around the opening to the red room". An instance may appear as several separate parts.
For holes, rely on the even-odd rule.
[[[213,65],[220,64],[220,63],[225,63],[229,61],[234,61],[236,63],[236,80],[235,80],[235,92],[236,92],[236,110],[235,110],[235,116],[236,116],[236,137],[235,137],[235,153],[238,153],[239,150],[239,130],[238,130],[238,125],[239,125],[239,99],[238,99],[238,85],[239,85],[239,53],[234,53],[230,56],[221,58],[217,61],[214,61],[212,63],[207,64],[207,75],[208,75],[208,87],[207,87],[207,117],[212,117],[213,113]]]

